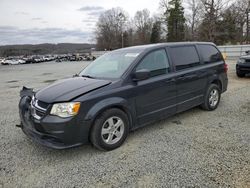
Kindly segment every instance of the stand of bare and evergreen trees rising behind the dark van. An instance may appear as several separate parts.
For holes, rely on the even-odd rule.
[[[95,30],[97,49],[159,42],[225,45],[250,41],[250,0],[161,0],[159,6],[159,13],[153,16],[143,9],[131,18],[119,7],[102,13]]]

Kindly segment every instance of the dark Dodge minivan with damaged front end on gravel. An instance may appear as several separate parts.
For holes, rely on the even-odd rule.
[[[48,147],[91,142],[112,150],[146,124],[195,106],[215,110],[227,84],[227,65],[212,43],[119,49],[73,78],[37,92],[24,87],[20,127]]]

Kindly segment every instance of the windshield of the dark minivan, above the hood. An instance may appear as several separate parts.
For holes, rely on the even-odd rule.
[[[90,63],[79,76],[120,78],[141,51],[119,50],[106,53]]]

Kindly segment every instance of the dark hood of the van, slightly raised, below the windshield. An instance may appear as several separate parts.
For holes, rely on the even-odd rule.
[[[104,87],[111,81],[83,77],[69,78],[55,82],[38,91],[35,97],[46,103],[70,101],[90,91]]]

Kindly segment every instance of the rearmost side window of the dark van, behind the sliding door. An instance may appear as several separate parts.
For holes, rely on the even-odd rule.
[[[204,63],[215,63],[223,60],[221,53],[212,45],[198,45]]]

